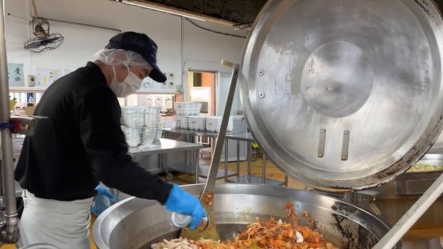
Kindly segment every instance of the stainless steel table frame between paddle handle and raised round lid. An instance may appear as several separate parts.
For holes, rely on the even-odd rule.
[[[284,182],[275,181],[273,179],[266,178],[266,155],[263,153],[262,158],[262,178],[258,176],[253,176],[251,174],[251,158],[252,158],[252,149],[251,142],[254,141],[254,138],[251,133],[236,133],[226,135],[226,142],[224,143],[225,151],[228,151],[228,140],[236,140],[237,141],[237,175],[234,177],[230,177],[225,175],[225,182],[233,182],[233,183],[262,183],[262,184],[270,184],[270,185],[284,185],[287,187],[288,185],[288,176],[284,175]],[[246,158],[248,161],[248,174],[246,176],[240,176],[240,155],[239,155],[239,145],[240,142],[246,142]],[[224,161],[224,169],[228,169],[228,158],[227,154],[225,154]]]

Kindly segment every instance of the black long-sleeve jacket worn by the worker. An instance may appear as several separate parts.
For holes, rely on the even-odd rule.
[[[100,68],[88,62],[56,80],[42,96],[34,135],[26,137],[15,180],[43,199],[96,194],[99,181],[126,194],[165,203],[172,185],[127,155],[120,105]]]

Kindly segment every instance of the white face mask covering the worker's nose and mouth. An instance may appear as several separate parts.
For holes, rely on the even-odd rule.
[[[140,89],[143,80],[129,71],[129,66],[127,66],[128,75],[121,83],[117,80],[116,67],[113,66],[112,69],[114,70],[114,79],[112,79],[109,88],[116,93],[118,98],[125,98]]]

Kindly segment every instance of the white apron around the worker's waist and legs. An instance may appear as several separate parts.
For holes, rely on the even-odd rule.
[[[24,190],[20,234],[24,246],[50,243],[60,249],[89,249],[93,198],[78,201],[41,199]]]

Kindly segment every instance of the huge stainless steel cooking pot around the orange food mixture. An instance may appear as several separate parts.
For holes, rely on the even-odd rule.
[[[188,185],[184,189],[197,195],[203,187]],[[214,203],[219,235],[232,239],[234,232],[257,216],[263,220],[287,219],[283,206],[288,201],[296,203],[298,212],[307,210],[318,230],[339,248],[372,248],[390,229],[377,216],[329,196],[270,185],[217,184]],[[100,249],[150,248],[151,243],[179,236],[170,217],[171,213],[156,201],[131,197],[98,217],[93,238]],[[396,248],[401,248],[401,242]]]

